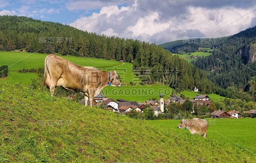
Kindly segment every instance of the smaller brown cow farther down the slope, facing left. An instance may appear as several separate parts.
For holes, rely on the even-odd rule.
[[[206,138],[208,130],[208,122],[203,119],[193,118],[191,120],[182,119],[178,125],[179,129],[187,127],[191,134],[202,135]]]

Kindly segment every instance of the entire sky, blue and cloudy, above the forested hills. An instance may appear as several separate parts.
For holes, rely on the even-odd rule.
[[[0,0],[0,8],[0,15],[157,44],[229,36],[256,25],[252,0]]]

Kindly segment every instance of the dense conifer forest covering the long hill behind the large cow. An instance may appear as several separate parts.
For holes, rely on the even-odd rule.
[[[207,74],[156,44],[84,32],[60,23],[27,17],[0,16],[0,50],[24,48],[28,52],[60,53],[80,57],[123,60],[134,65],[144,82],[164,83],[176,89],[199,89],[211,93],[214,84]]]

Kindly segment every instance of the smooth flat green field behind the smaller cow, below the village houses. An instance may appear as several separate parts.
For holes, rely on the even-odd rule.
[[[230,142],[233,146],[244,148],[246,151],[256,152],[256,119],[205,119],[209,123],[207,139],[214,139],[216,142]],[[188,130],[177,129],[180,120],[148,120],[151,125],[177,130],[180,133]]]

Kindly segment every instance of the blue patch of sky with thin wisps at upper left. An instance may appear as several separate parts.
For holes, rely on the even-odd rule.
[[[44,0],[22,0],[22,1],[2,1],[0,0],[1,10],[15,11],[15,15],[28,16],[43,21],[53,21],[63,24],[74,22],[77,18],[90,16],[93,12],[99,12],[99,8],[69,10],[68,6],[72,1],[44,1]],[[119,4],[118,6],[125,6]],[[8,12],[10,14],[14,12]],[[6,13],[7,14],[7,13]]]

